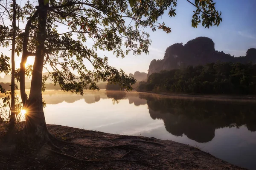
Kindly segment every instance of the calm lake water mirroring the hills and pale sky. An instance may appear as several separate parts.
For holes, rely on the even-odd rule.
[[[43,98],[48,124],[173,140],[256,169],[256,103],[103,90],[46,91]]]

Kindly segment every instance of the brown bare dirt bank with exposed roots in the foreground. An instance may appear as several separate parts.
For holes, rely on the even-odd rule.
[[[186,144],[47,125],[59,148],[0,147],[1,170],[228,170],[243,169]]]

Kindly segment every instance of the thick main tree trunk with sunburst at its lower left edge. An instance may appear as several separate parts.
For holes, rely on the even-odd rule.
[[[47,6],[44,5],[44,0],[38,1],[38,46],[36,47],[35,62],[33,65],[33,73],[31,80],[31,88],[29,99],[27,101],[26,109],[26,130],[29,135],[39,138],[39,140],[46,139],[48,135],[42,101],[42,72],[44,65],[44,41],[46,37],[46,23],[47,23]]]

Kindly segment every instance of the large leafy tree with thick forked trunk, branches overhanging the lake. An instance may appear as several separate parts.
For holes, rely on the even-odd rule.
[[[26,25],[17,36],[17,52],[22,52],[22,58],[16,79],[20,81],[21,98],[27,110],[28,136],[41,142],[49,139],[42,100],[47,79],[42,76],[43,68],[51,67],[49,78],[64,91],[82,95],[84,88],[98,89],[96,82],[100,80],[131,90],[135,80],[109,66],[108,57],[99,57],[96,51],[113,51],[116,57],[125,57],[129,52],[148,54],[151,41],[143,28],[150,27],[153,31],[158,28],[170,33],[171,28],[159,23],[158,19],[166,11],[174,17],[176,5],[177,0],[129,0],[129,3],[125,0],[38,0],[38,6],[29,1],[18,6],[22,9],[18,18]],[[193,27],[199,23],[207,28],[219,25],[221,14],[215,10],[212,0],[195,0],[193,5],[196,8]],[[126,19],[129,22],[125,22]],[[6,37],[11,35],[7,33]],[[88,40],[94,44],[86,44]],[[25,64],[29,56],[35,56],[35,62],[28,70]],[[93,70],[87,68],[86,62]],[[31,74],[28,97],[25,75]]]

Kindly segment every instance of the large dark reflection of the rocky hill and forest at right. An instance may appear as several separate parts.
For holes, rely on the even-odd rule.
[[[163,119],[166,130],[175,136],[185,134],[196,142],[209,142],[215,129],[245,125],[256,131],[256,105],[245,102],[172,99],[140,94],[146,99],[152,119]]]

